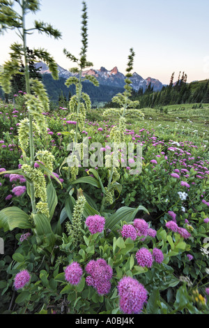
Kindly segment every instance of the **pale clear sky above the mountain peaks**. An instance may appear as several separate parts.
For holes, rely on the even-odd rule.
[[[88,14],[87,60],[93,68],[125,74],[127,56],[135,52],[133,72],[169,84],[179,72],[187,82],[209,78],[208,0],[86,0]],[[17,9],[15,4],[15,9]],[[79,56],[82,47],[82,0],[42,0],[40,10],[26,16],[26,27],[34,20],[52,24],[62,33],[54,40],[38,32],[27,36],[30,49],[44,48],[65,69],[75,67],[63,49]],[[18,9],[17,9],[18,10]],[[9,59],[11,43],[19,42],[15,31],[0,35],[0,65]]]

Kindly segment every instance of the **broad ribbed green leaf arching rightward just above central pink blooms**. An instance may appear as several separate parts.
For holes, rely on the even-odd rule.
[[[138,211],[146,211],[146,213],[149,214],[148,210],[141,205],[139,205],[136,209],[133,209],[132,207],[121,207],[114,214],[107,218],[105,226],[106,228],[112,230],[114,229],[114,226],[120,221],[133,221]]]

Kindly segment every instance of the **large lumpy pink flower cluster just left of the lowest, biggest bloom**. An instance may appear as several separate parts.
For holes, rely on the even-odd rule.
[[[93,286],[100,295],[109,292],[113,269],[105,260],[98,258],[96,261],[89,261],[88,264],[86,264],[86,272],[89,274],[89,276],[86,277],[87,285]]]

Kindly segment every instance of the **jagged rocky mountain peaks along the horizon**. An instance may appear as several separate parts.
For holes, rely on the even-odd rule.
[[[40,73],[43,75],[50,74],[49,67],[42,61],[36,63],[36,68],[40,68]],[[59,77],[68,79],[70,76],[77,76],[77,74],[71,73],[69,70],[65,70],[65,68],[62,68],[58,64],[57,68],[59,70]],[[104,67],[101,67],[98,70],[90,68],[89,70],[84,70],[82,72],[82,76],[84,77],[85,75],[95,76],[100,85],[118,88],[123,88],[125,85],[125,75],[120,73],[116,66],[111,70],[107,70]],[[147,77],[144,79],[136,72],[132,74],[130,80],[132,81],[132,88],[134,91],[138,91],[139,89],[143,89],[143,91],[145,91],[149,84],[151,87],[153,87],[153,91],[160,91],[163,87],[163,84],[159,80],[154,79],[153,77]]]

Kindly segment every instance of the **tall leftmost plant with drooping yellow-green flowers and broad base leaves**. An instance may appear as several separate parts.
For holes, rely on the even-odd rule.
[[[27,181],[27,193],[31,198],[32,213],[28,216],[24,212],[19,213],[18,219],[16,219],[15,210],[13,207],[3,209],[0,212],[0,228],[4,230],[13,228],[34,228],[35,234],[42,234],[42,241],[45,235],[49,235],[51,230],[49,224],[45,224],[45,221],[40,220],[40,215],[45,216],[47,220],[52,218],[52,204],[49,204],[48,200],[56,202],[56,195],[52,184],[49,184],[49,188],[46,186],[44,174],[48,177],[52,174],[52,162],[53,156],[49,151],[41,150],[35,153],[34,137],[33,133],[37,135],[47,135],[47,124],[45,117],[42,115],[44,110],[49,109],[49,100],[47,93],[42,82],[36,79],[30,79],[29,73],[29,55],[27,52],[26,36],[38,31],[39,33],[46,33],[48,36],[53,36],[55,39],[61,38],[61,33],[45,22],[38,22],[35,20],[33,28],[26,28],[26,15],[28,13],[36,13],[39,10],[40,1],[38,0],[16,0],[19,5],[20,13],[17,13],[14,8],[14,1],[0,1],[0,33],[8,29],[15,29],[17,36],[19,36],[21,43],[13,43],[10,46],[10,60],[6,61],[3,65],[3,72],[0,75],[0,85],[6,94],[10,93],[11,80],[13,75],[20,73],[21,64],[24,63],[24,77],[26,84],[26,107],[29,113],[28,118],[20,121],[19,126],[19,142],[22,148],[22,154],[24,163],[21,170],[15,170],[13,172],[22,174],[26,177]],[[53,57],[44,49],[34,49],[33,55],[38,60],[45,61],[49,66],[49,70],[52,72],[54,79],[58,79],[58,70]],[[26,157],[26,151],[29,148],[30,158]],[[39,163],[39,167],[36,169],[34,163],[37,159],[43,164]],[[11,173],[11,171],[8,171]],[[59,180],[58,180],[59,181]],[[48,188],[48,189],[47,189]],[[48,192],[48,195],[47,195]],[[36,204],[36,198],[39,199]],[[20,212],[20,210],[19,210]],[[40,235],[38,236],[39,240]],[[51,239],[52,240],[52,239]]]

